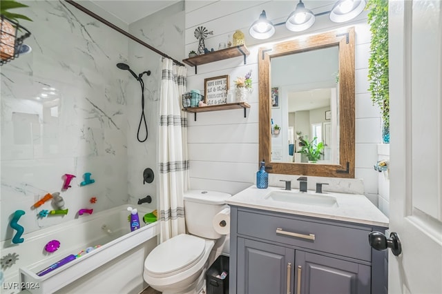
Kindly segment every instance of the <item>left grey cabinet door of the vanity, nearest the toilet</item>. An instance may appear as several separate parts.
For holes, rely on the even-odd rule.
[[[294,249],[238,237],[237,293],[292,293],[294,258]]]

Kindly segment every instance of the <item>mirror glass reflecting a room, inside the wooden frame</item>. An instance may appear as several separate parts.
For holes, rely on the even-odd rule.
[[[271,88],[278,88],[271,119],[282,129],[271,136],[272,161],[338,164],[338,50],[333,46],[271,59]],[[323,142],[317,159],[302,152],[304,140],[314,146]]]

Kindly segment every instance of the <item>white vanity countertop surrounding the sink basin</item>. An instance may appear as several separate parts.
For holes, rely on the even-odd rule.
[[[279,213],[290,213],[293,215],[306,215],[324,219],[336,219],[344,222],[369,224],[372,226],[389,226],[389,219],[364,195],[329,192],[315,193],[311,190],[307,192],[307,195],[335,197],[338,205],[327,207],[278,202],[265,198],[271,191],[276,190],[285,191],[280,187],[258,189],[256,186],[251,186],[227,199],[227,204],[270,210]],[[292,189],[291,192],[299,193],[299,189]]]

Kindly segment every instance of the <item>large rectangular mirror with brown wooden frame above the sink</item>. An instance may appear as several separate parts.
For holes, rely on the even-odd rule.
[[[267,171],[354,178],[354,28],[260,48],[258,59]],[[301,152],[309,143],[323,148]]]

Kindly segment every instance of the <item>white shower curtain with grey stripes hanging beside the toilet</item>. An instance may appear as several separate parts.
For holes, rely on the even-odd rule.
[[[189,187],[187,155],[187,115],[181,111],[181,95],[186,91],[186,68],[162,59],[160,126],[160,242],[186,233],[184,191]]]

